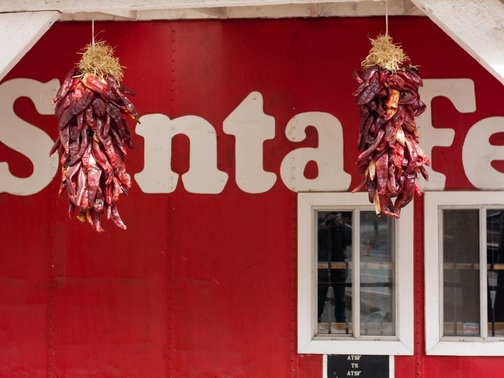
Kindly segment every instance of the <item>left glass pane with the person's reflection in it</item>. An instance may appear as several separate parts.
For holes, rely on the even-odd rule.
[[[318,334],[352,335],[352,212],[319,211]]]

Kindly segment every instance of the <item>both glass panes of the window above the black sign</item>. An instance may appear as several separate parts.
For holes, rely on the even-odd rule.
[[[352,211],[318,212],[317,333],[352,335],[355,326],[360,335],[393,336],[394,223],[387,217],[377,218],[374,211],[358,212],[357,230],[351,226]],[[360,245],[352,245],[353,233],[359,233]],[[358,266],[352,249],[359,256]],[[358,287],[353,287],[353,270],[359,277]],[[360,309],[358,319],[352,319],[353,302]]]

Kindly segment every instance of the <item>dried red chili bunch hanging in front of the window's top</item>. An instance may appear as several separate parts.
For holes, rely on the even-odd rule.
[[[423,83],[392,38],[381,35],[371,43],[362,62],[365,71],[353,75],[359,83],[353,95],[361,118],[357,164],[364,177],[352,193],[367,186],[376,214],[399,218],[401,208],[422,194],[417,174],[428,180],[423,165],[430,163],[418,145],[415,124],[415,117],[425,111],[418,95]]]

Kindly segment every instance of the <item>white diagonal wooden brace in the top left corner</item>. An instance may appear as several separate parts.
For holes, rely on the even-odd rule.
[[[0,80],[58,19],[58,12],[0,13]]]

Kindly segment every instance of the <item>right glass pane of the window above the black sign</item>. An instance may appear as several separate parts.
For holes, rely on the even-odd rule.
[[[360,334],[394,336],[394,221],[360,212]]]

